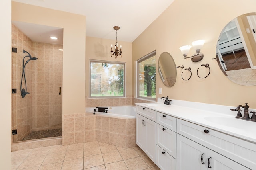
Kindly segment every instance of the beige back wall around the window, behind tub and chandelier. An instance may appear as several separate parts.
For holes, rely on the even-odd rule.
[[[114,37],[113,37],[114,38]],[[95,37],[86,37],[86,106],[118,106],[132,104],[132,43],[118,41],[122,45],[122,57],[111,57],[110,45],[114,44],[115,40],[101,39]],[[120,61],[126,62],[126,97],[117,99],[89,99],[89,83],[90,83],[90,59],[105,60],[105,61]]]

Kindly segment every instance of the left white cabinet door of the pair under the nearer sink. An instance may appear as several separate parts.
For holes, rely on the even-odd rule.
[[[177,134],[177,170],[207,170],[207,160],[206,147]]]

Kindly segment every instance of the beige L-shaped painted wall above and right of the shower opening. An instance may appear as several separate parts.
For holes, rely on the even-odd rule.
[[[85,16],[12,2],[12,20],[64,29],[62,110],[63,114],[84,113]]]

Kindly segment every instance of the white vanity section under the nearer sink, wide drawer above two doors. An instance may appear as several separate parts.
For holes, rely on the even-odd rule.
[[[177,119],[177,133],[177,170],[208,169],[208,160],[211,170],[256,167],[254,143],[181,119]]]

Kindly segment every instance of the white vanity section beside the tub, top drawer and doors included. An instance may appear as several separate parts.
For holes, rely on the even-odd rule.
[[[156,111],[140,106],[136,109],[136,144],[156,163]]]

